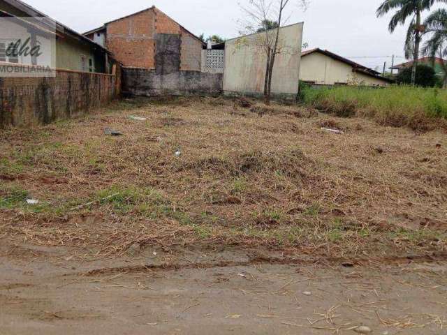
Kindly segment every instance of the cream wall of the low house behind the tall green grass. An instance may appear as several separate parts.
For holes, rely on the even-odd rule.
[[[315,84],[359,84],[386,86],[385,80],[353,72],[353,67],[342,61],[314,52],[301,59],[300,80]]]

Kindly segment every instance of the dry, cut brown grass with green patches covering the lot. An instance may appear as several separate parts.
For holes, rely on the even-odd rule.
[[[445,135],[244,105],[135,99],[3,131],[0,239],[98,254],[136,242],[350,257],[446,248]],[[124,135],[104,135],[106,127]]]

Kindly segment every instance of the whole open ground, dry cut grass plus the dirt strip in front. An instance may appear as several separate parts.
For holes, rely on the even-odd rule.
[[[444,331],[443,128],[222,98],[133,99],[1,131],[0,153],[6,334]]]

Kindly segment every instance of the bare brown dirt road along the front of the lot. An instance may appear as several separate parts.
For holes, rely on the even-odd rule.
[[[82,260],[66,248],[0,251],[2,335],[356,334],[362,325],[371,334],[447,334],[442,260],[272,264],[247,251],[147,250],[119,260]]]

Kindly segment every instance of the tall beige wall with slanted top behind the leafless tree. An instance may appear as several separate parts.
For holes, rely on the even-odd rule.
[[[281,54],[277,54],[272,76],[272,94],[298,94],[303,24],[282,27]],[[225,45],[224,93],[263,94],[266,59],[265,33],[227,40]]]

